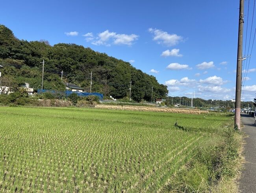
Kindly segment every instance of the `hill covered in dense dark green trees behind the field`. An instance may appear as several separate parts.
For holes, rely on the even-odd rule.
[[[77,84],[89,90],[90,75],[93,73],[93,92],[112,95],[114,98],[129,96],[132,80],[132,99],[151,101],[165,98],[167,86],[159,84],[154,76],[135,69],[130,63],[95,52],[76,44],[56,44],[47,41],[19,40],[13,32],[0,25],[0,65],[2,76],[13,84],[28,82],[34,89],[41,88],[42,64],[45,60],[45,89],[63,90],[63,81]],[[63,80],[61,80],[63,71]],[[2,82],[3,84],[3,82]]]

